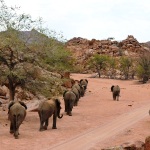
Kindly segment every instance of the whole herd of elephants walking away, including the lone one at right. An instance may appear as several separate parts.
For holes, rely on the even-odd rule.
[[[64,91],[63,99],[65,105],[65,112],[68,116],[72,116],[72,109],[78,106],[79,99],[84,96],[88,80],[81,79],[75,80],[76,82],[71,89]],[[111,87],[113,100],[119,100],[120,87],[118,85]],[[27,106],[22,101],[11,101],[8,105],[8,118],[10,120],[10,133],[14,135],[15,139],[18,139],[19,127],[26,117]],[[38,115],[40,120],[39,131],[47,130],[49,124],[49,118],[53,116],[52,129],[57,129],[56,121],[57,117],[61,119],[63,114],[60,115],[61,103],[60,100],[48,99],[39,104]]]

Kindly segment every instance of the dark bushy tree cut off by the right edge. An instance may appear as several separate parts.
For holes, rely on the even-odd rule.
[[[150,53],[140,56],[137,66],[138,77],[142,78],[142,82],[146,83],[150,77]]]

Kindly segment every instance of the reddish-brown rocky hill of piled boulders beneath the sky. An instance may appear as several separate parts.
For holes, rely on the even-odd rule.
[[[122,41],[107,40],[88,40],[81,37],[74,37],[66,43],[67,49],[73,52],[77,59],[76,66],[83,66],[86,70],[87,60],[95,53],[106,54],[113,57],[128,56],[139,57],[144,52],[150,52],[147,43],[139,43],[132,35]]]

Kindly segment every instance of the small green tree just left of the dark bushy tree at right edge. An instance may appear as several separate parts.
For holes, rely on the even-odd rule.
[[[130,67],[132,66],[132,59],[122,56],[120,58],[120,71],[123,73],[123,75],[125,76],[125,80],[127,80],[129,78],[129,71],[130,71]]]

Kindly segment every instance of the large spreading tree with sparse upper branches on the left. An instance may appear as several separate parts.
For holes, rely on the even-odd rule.
[[[49,97],[57,79],[54,82],[42,72],[50,68],[49,61],[57,58],[56,53],[61,61],[65,59],[66,62],[70,61],[70,55],[59,55],[61,50],[65,52],[62,48],[64,44],[42,27],[41,18],[32,20],[30,15],[18,15],[17,7],[8,7],[3,0],[0,3],[1,85],[8,87],[10,100],[14,100],[17,87]],[[57,60],[53,62],[55,66]]]

